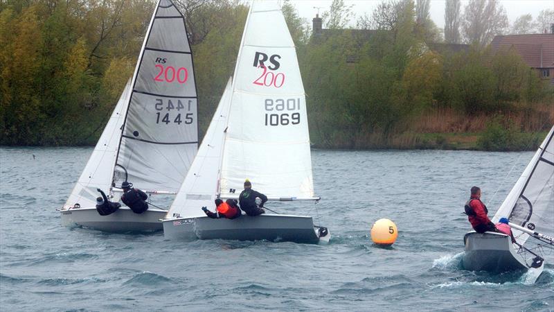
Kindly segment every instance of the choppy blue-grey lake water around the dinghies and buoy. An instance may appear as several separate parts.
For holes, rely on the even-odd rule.
[[[2,311],[554,309],[553,254],[535,284],[460,267],[468,189],[492,216],[533,153],[314,150],[323,200],[302,209],[332,241],[304,245],[62,227],[55,209],[91,152],[0,148]],[[378,218],[395,221],[393,248],[371,243]]]

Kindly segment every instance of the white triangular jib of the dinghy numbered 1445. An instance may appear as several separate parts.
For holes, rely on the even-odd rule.
[[[96,189],[102,189],[106,194],[109,193],[121,134],[120,129],[123,125],[123,114],[125,114],[129,102],[130,92],[131,79],[127,81],[123,94],[121,94],[114,112],[111,113],[87,166],[84,167],[79,180],[73,187],[65,207],[73,207],[75,204],[79,204],[81,207],[94,207],[96,198],[100,196]]]

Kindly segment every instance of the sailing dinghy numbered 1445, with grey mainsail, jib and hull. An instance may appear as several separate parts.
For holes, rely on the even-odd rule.
[[[184,16],[159,0],[127,83],[98,144],[64,207],[62,223],[107,232],[161,230],[167,210],[149,205],[134,214],[125,205],[108,216],[96,211],[97,189],[117,202],[121,183],[152,194],[175,195],[198,147],[197,91]]]

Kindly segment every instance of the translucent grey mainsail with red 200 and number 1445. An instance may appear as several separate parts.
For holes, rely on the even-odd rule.
[[[170,0],[157,3],[132,86],[116,187],[177,191],[197,152],[197,92],[185,20]]]

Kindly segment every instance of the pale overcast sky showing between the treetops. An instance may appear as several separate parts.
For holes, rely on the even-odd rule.
[[[355,25],[357,17],[368,13],[371,16],[373,9],[381,2],[381,0],[345,0],[348,5],[353,5],[353,11],[356,17],[352,19],[352,26]],[[445,0],[431,0],[431,19],[439,28],[445,26]],[[461,12],[467,5],[469,0],[462,0]],[[530,13],[533,15],[533,19],[539,15],[539,12],[544,9],[554,10],[554,0],[500,0],[502,6],[506,8],[508,13],[508,19],[511,24],[517,19],[517,17]],[[301,17],[307,19],[312,23],[312,19],[315,17],[317,9],[314,7],[321,7],[320,14],[325,10],[329,10],[331,0],[292,0],[294,6],[298,10],[298,14]]]

